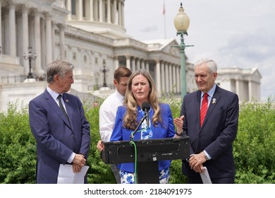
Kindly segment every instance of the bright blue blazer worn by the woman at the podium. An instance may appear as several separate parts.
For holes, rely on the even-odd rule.
[[[157,127],[152,124],[152,117],[154,115],[154,111],[151,107],[149,111],[149,119],[150,119],[150,127],[152,129],[152,139],[161,139],[161,138],[171,138],[175,135],[175,127],[173,125],[173,117],[171,113],[171,109],[168,104],[160,103],[161,108],[161,118],[162,122],[157,123]],[[140,107],[138,107],[140,108]],[[133,130],[126,129],[123,127],[123,117],[126,113],[126,106],[118,107],[118,111],[116,112],[116,121],[114,124],[114,129],[111,134],[110,141],[123,141],[130,140],[130,135]],[[142,114],[138,113],[137,121],[138,123],[142,119]],[[141,129],[141,126],[138,130]],[[136,132],[134,136],[134,140],[140,139],[141,132]],[[168,168],[171,165],[171,161],[159,161],[159,170],[163,170],[164,168]],[[135,167],[134,163],[121,163],[118,164],[118,168],[120,170],[127,171],[128,173],[134,173]]]

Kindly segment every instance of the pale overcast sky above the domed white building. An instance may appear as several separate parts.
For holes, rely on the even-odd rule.
[[[262,101],[275,95],[274,0],[126,0],[126,33],[141,41],[166,37],[179,43],[173,19],[181,3],[190,18],[185,45],[194,45],[185,48],[189,62],[207,57],[218,67],[257,67]]]

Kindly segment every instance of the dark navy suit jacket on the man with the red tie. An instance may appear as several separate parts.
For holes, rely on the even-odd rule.
[[[213,102],[214,98],[216,102]],[[212,159],[206,161],[204,166],[210,177],[235,177],[232,144],[238,131],[238,95],[216,86],[201,129],[200,100],[201,91],[185,95],[181,108],[181,115],[185,115],[183,132],[190,137],[190,154],[200,153],[204,149],[209,153]],[[190,169],[185,160],[183,173],[200,176]]]

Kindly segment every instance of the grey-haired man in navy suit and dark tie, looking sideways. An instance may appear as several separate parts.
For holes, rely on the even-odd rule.
[[[73,64],[49,63],[47,82],[44,93],[29,103],[30,128],[37,141],[37,183],[57,183],[61,164],[71,164],[74,173],[80,172],[90,149],[90,124],[82,103],[66,93],[73,83]]]

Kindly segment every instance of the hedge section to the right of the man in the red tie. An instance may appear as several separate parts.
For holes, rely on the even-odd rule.
[[[233,143],[236,183],[275,183],[274,99],[240,105],[238,135]]]

